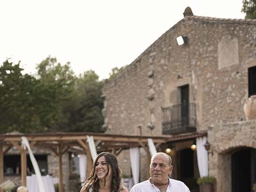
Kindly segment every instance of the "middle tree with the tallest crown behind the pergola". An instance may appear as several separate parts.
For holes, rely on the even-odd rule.
[[[70,63],[63,66],[56,58],[48,57],[37,65],[39,83],[36,86],[41,124],[47,131],[61,130],[60,124],[67,122],[69,114],[64,108],[72,100],[75,78]]]

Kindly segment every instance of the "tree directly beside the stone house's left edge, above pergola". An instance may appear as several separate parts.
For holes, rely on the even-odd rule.
[[[100,96],[103,83],[98,78],[94,71],[89,70],[76,79],[74,97],[66,106],[70,117],[62,125],[64,130],[102,132],[103,99]]]

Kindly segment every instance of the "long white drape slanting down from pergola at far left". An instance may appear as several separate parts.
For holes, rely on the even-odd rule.
[[[28,139],[26,137],[22,136],[21,140],[22,140],[22,147],[23,148],[26,147],[28,149],[29,157],[30,157],[30,160],[32,162],[32,165],[33,165],[35,173],[36,173],[36,178],[37,178],[37,182],[38,182],[39,191],[40,192],[45,192],[41,172],[40,172],[39,166],[36,162],[36,158],[34,157],[34,154],[33,154],[32,150],[30,148]]]

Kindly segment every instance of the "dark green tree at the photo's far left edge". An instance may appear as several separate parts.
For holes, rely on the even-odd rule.
[[[22,75],[20,63],[6,60],[0,66],[0,132],[38,132],[41,129],[34,106],[37,80]]]

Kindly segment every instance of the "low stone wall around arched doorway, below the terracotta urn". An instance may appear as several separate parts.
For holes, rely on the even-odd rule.
[[[231,154],[242,147],[256,149],[256,120],[218,124],[208,128],[210,175],[217,178],[217,191],[231,187]]]

